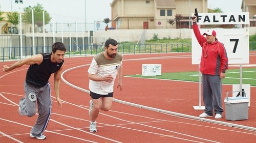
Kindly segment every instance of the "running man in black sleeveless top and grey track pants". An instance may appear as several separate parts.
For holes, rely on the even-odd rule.
[[[10,67],[5,65],[3,71],[8,72],[13,69],[30,65],[25,80],[25,98],[20,99],[18,112],[20,116],[33,117],[36,113],[36,101],[38,117],[34,127],[30,131],[30,137],[46,139],[42,133],[45,131],[52,111],[51,87],[48,81],[54,73],[54,90],[56,100],[61,107],[59,98],[60,75],[64,66],[64,55],[66,47],[61,42],[52,45],[51,53],[41,53],[20,60]]]

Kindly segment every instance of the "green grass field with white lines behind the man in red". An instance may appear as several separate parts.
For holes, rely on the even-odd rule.
[[[159,79],[172,79],[172,80],[185,80],[185,81],[196,81],[198,82],[199,77],[198,71],[194,72],[173,72],[173,73],[162,73],[159,76],[142,76],[142,75],[127,75],[132,77],[143,77],[143,78],[159,78]],[[256,86],[256,68],[243,69],[242,83]],[[226,77],[222,79],[223,84],[240,84],[240,70],[232,69],[226,71]]]

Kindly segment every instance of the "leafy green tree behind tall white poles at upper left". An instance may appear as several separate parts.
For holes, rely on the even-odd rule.
[[[42,13],[45,10],[41,4],[37,4],[34,7],[24,8],[23,21],[32,24],[32,9],[34,10],[34,24],[40,27],[41,31],[39,31],[39,28],[38,28],[38,32],[42,32],[42,25],[43,25]],[[50,14],[47,11],[45,11],[45,24],[48,24],[51,21],[51,19],[52,17],[50,17]]]

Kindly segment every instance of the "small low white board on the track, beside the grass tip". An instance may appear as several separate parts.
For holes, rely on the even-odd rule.
[[[143,76],[161,75],[161,70],[162,70],[161,64],[142,64]]]

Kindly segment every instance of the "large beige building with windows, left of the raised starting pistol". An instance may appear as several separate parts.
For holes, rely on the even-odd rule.
[[[111,7],[112,27],[116,29],[189,28],[195,8],[207,12],[207,0],[113,0]],[[171,20],[173,24],[168,22]]]

